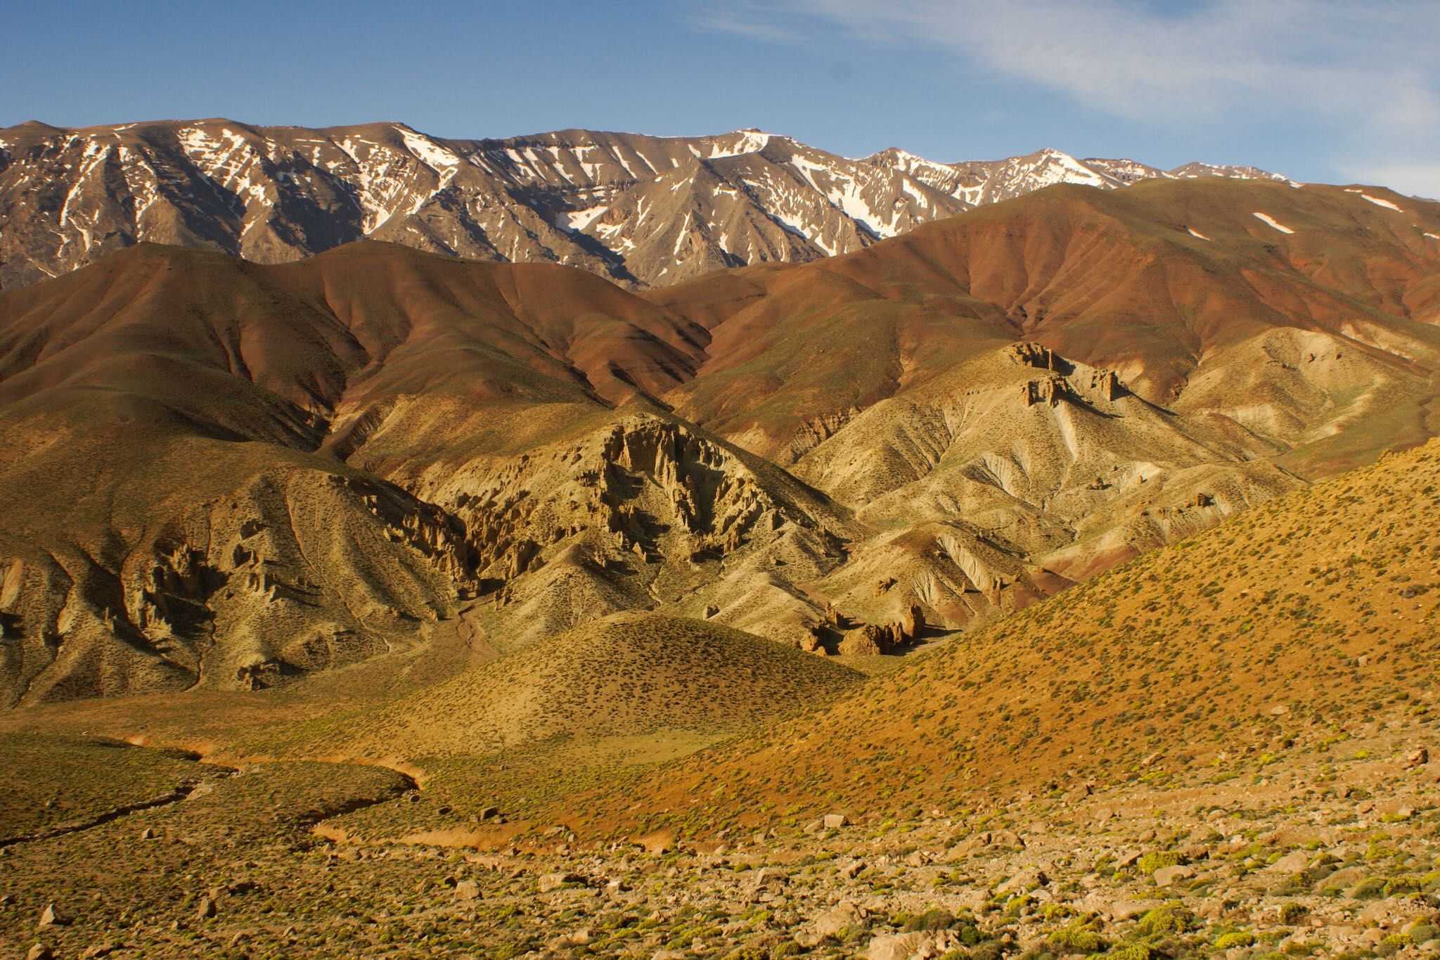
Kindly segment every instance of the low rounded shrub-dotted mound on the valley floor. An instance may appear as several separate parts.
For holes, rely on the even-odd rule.
[[[408,759],[552,738],[736,731],[824,702],[860,674],[704,620],[621,615],[350,717],[302,748]]]

